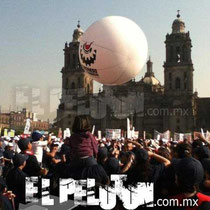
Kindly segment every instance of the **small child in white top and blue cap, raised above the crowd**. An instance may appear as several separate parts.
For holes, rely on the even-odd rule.
[[[32,151],[41,165],[43,158],[43,147],[48,145],[48,141],[44,141],[43,135],[39,131],[34,131],[31,135]]]

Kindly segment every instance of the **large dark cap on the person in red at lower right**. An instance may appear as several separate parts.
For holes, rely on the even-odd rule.
[[[200,161],[192,157],[181,159],[175,166],[178,180],[182,185],[193,186],[203,180],[204,170]]]

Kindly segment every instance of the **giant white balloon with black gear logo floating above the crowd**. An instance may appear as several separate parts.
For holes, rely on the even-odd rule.
[[[136,23],[109,16],[93,23],[80,38],[79,59],[97,82],[120,85],[140,72],[147,51],[146,37]]]

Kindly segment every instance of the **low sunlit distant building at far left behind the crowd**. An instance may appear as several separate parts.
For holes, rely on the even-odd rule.
[[[0,128],[23,130],[26,119],[31,120],[30,130],[48,130],[49,122],[36,119],[36,114],[22,109],[19,112],[0,113]]]

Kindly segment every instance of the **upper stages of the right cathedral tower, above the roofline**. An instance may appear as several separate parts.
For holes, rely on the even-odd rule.
[[[185,23],[177,19],[172,24],[171,34],[166,35],[166,61],[164,62],[164,83],[166,95],[193,94],[193,63],[191,59],[190,33],[185,32]]]

